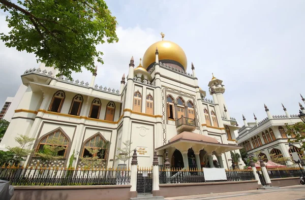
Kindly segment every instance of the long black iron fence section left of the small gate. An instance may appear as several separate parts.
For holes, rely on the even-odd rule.
[[[128,185],[130,170],[0,168],[0,179],[12,185]]]

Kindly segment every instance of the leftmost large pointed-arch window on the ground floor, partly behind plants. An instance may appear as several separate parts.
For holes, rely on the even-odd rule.
[[[49,145],[49,146],[54,146],[55,145],[55,146],[65,147],[65,149],[57,152],[58,156],[64,156],[65,157],[69,142],[68,142],[68,139],[66,138],[66,136],[63,134],[62,131],[55,130],[51,134],[49,134],[49,135],[45,136],[43,139],[41,139],[41,141],[39,142],[39,144],[37,146],[36,152],[43,151],[43,147],[45,145]]]

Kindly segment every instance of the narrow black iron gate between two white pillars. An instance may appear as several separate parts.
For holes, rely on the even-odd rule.
[[[153,190],[153,169],[138,168],[137,171],[137,192],[151,193]]]

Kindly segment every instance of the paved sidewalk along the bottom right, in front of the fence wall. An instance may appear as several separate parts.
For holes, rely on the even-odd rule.
[[[217,194],[203,194],[192,196],[177,196],[167,197],[170,200],[207,200],[207,199],[221,199],[221,200],[250,200],[250,199],[267,199],[267,200],[305,200],[305,185],[295,185],[288,187],[281,187],[279,189],[268,190],[249,190],[242,192],[228,192]]]

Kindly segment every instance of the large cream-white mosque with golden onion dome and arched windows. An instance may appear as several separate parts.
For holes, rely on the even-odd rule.
[[[21,79],[26,91],[0,147],[18,146],[13,139],[18,135],[35,138],[25,164],[43,164],[35,152],[55,138],[66,148],[58,152],[64,158],[52,164],[67,166],[75,152],[77,167],[84,165],[81,157],[96,156],[87,149],[98,148],[102,141],[110,145],[98,158],[103,166],[116,168],[124,164],[115,156],[117,149],[132,141],[128,148],[137,149],[139,166],[151,166],[157,150],[160,165],[167,154],[173,167],[230,168],[230,151],[239,153],[242,146],[234,135],[239,127],[229,114],[223,81],[212,76],[207,82],[212,100],[208,99],[193,63],[192,73],[187,72],[184,50],[161,35],[143,60],[131,58],[118,90],[95,84],[97,68],[90,83],[56,77],[56,70],[43,65],[25,71]],[[131,159],[125,164],[129,166]],[[238,166],[244,163],[240,160]]]

